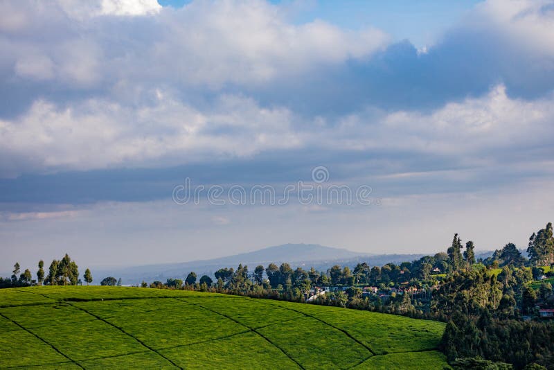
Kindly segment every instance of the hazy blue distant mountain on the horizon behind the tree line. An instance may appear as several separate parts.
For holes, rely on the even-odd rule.
[[[183,279],[191,271],[196,272],[198,276],[203,274],[213,276],[213,273],[222,267],[236,268],[240,263],[248,265],[250,270],[257,265],[267,267],[269,263],[280,265],[285,262],[290,263],[293,268],[309,269],[314,267],[316,270],[327,270],[336,264],[353,267],[357,263],[366,262],[369,265],[382,266],[386,263],[399,264],[404,261],[413,261],[422,256],[423,254],[363,254],[317,244],[284,244],[210,260],[91,270],[95,277],[95,283],[105,276],[114,276],[121,278],[124,284],[138,284],[143,280],[165,282],[168,278]]]

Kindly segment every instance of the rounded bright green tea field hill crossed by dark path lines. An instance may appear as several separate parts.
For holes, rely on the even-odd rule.
[[[444,324],[223,294],[0,290],[0,368],[442,369]]]

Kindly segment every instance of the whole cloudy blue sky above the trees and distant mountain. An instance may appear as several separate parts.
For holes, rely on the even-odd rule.
[[[2,1],[0,47],[0,271],[553,221],[554,1]]]

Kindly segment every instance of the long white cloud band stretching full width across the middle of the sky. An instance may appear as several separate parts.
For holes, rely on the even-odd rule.
[[[1,173],[170,166],[289,149],[395,150],[467,164],[494,161],[494,152],[508,150],[526,160],[526,151],[548,145],[542,133],[554,118],[553,96],[528,102],[510,98],[502,85],[429,114],[358,112],[316,130],[310,118],[244,96],[220,96],[198,109],[163,89],[150,95],[156,98],[139,106],[37,100],[23,116],[0,121]]]

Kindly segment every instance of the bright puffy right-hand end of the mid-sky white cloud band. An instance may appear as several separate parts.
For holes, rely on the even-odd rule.
[[[539,132],[548,130],[554,117],[553,103],[554,96],[533,101],[510,98],[506,87],[497,85],[486,96],[448,103],[431,114],[388,114],[384,123],[405,136],[420,139],[421,150],[471,155],[473,150],[508,148],[514,143],[520,148],[546,143]]]

